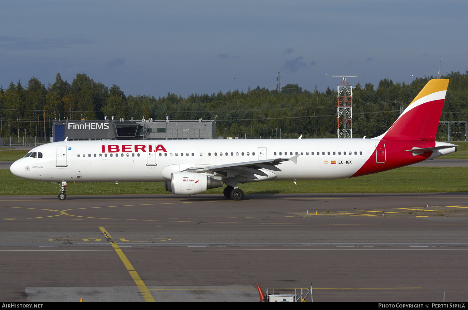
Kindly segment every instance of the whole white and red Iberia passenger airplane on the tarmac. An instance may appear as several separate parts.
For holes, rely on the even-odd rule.
[[[10,171],[58,182],[60,200],[70,182],[164,182],[166,191],[189,196],[226,184],[224,196],[241,200],[239,183],[363,176],[457,151],[435,141],[448,82],[430,80],[388,131],[371,139],[65,139],[33,148]]]

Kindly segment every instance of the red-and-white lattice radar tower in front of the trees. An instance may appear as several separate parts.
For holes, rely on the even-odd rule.
[[[357,75],[332,75],[343,77],[341,85],[336,86],[336,139],[352,138],[352,85],[349,85],[347,77]],[[356,89],[356,88],[354,88]]]

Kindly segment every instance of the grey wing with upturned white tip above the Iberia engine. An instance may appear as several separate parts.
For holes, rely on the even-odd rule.
[[[208,172],[208,173],[219,173],[224,175],[225,177],[248,177],[251,179],[258,179],[255,175],[268,177],[268,174],[263,172],[260,169],[267,169],[272,171],[281,171],[278,166],[282,162],[292,161],[297,164],[297,157],[295,155],[291,158],[275,158],[275,159],[264,159],[254,162],[234,162],[234,163],[227,163],[222,165],[214,165],[214,166],[207,166],[207,167],[193,167],[182,170],[181,172]]]

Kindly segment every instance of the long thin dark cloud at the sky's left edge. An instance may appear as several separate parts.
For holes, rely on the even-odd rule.
[[[51,39],[0,36],[0,48],[8,50],[44,50],[69,48],[73,44],[94,44],[96,41],[86,39]]]

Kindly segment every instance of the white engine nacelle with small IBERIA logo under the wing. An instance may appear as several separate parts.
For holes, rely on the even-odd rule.
[[[164,187],[168,190],[169,182]],[[205,173],[173,172],[171,173],[171,189],[176,195],[195,195],[206,192],[210,188],[223,186],[221,180],[215,180]]]

